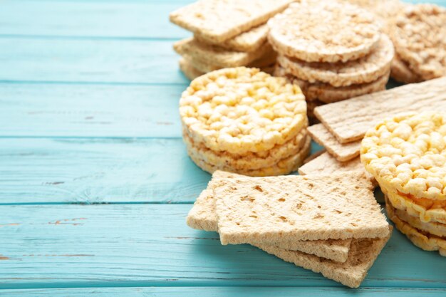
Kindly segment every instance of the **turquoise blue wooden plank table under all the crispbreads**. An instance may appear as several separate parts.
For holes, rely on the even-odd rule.
[[[186,226],[209,181],[180,138],[186,2],[0,1],[0,296],[445,296],[398,231],[353,290]]]

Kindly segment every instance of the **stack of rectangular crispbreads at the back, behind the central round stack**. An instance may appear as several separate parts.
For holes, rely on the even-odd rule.
[[[191,80],[221,68],[249,66],[272,72],[276,54],[266,41],[268,21],[292,0],[202,0],[170,14],[170,21],[194,33],[174,49]]]

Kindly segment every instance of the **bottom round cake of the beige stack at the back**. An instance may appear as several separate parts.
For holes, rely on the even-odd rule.
[[[375,93],[380,90],[385,90],[385,85],[389,79],[389,72],[370,83],[361,83],[360,85],[349,85],[348,87],[333,87],[328,83],[308,83],[306,80],[296,78],[294,75],[286,73],[285,69],[277,66],[274,70],[274,75],[284,77],[290,83],[299,85],[305,95],[306,100],[320,100],[323,103],[333,103],[348,98],[364,95],[368,93]]]

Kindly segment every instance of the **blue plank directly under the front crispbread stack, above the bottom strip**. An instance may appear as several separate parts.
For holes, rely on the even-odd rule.
[[[0,288],[88,288],[110,283],[343,288],[253,246],[222,246],[216,233],[186,226],[190,207],[1,206]],[[446,288],[446,261],[395,231],[363,287]]]

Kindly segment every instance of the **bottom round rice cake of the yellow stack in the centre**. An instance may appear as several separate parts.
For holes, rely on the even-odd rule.
[[[190,156],[192,161],[194,161],[198,167],[211,174],[217,170],[223,170],[227,172],[237,172],[239,174],[248,175],[250,177],[267,177],[273,175],[289,174],[290,172],[298,170],[298,168],[303,164],[305,158],[308,156],[310,150],[311,150],[311,138],[307,136],[304,146],[301,148],[301,150],[299,150],[299,152],[296,153],[296,155],[291,155],[282,160],[279,160],[273,166],[261,167],[259,169],[251,169],[250,167],[237,169],[234,167],[229,167],[228,165],[224,164],[221,165],[210,164],[203,160],[202,155],[200,155],[199,152],[189,148],[187,150],[187,154]]]

